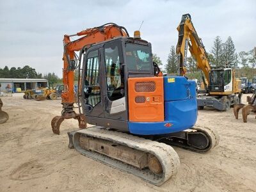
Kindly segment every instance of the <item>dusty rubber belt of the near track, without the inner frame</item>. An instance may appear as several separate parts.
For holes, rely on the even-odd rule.
[[[175,173],[177,173],[177,170],[180,166],[179,156],[175,152],[175,150],[170,147],[170,145],[159,143],[157,141],[146,140],[144,138],[132,136],[131,134],[125,134],[123,132],[107,131],[106,129],[102,128],[103,127],[95,126],[88,129],[72,132],[72,141],[74,148],[76,148],[76,150],[84,156],[88,156],[104,164],[108,164],[113,168],[132,173],[133,175],[136,175],[141,179],[147,180],[147,182],[150,182],[151,184],[154,184],[156,186],[160,186],[166,180],[170,179],[172,175],[175,175]],[[122,163],[121,161],[118,161],[116,159],[112,159],[111,157],[104,156],[97,152],[84,150],[79,146],[79,134],[91,136],[94,138],[100,138],[102,140],[113,141],[127,147],[136,148],[137,150],[154,154],[154,156],[157,157],[163,167],[163,173],[161,173],[161,175],[156,175],[150,172],[148,168],[140,170],[129,164]]]

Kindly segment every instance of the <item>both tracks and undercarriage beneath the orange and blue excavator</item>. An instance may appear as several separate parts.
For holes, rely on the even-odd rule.
[[[207,152],[219,141],[218,134],[206,127],[143,138],[95,126],[68,132],[68,137],[69,148],[157,186],[179,169],[179,156],[171,145]]]

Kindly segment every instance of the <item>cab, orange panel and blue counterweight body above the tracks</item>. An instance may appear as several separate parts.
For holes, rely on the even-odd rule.
[[[195,83],[158,73],[151,44],[140,38],[118,37],[86,49],[80,99],[86,122],[140,135],[192,127]]]

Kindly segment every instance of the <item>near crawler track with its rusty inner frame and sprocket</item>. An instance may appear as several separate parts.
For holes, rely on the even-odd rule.
[[[179,156],[171,146],[124,132],[95,126],[68,132],[68,137],[68,147],[84,156],[157,186],[175,175],[180,166]]]

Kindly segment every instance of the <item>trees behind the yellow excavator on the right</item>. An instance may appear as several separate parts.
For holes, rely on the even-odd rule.
[[[256,76],[254,68],[256,67],[256,57],[254,49],[250,51],[241,51],[237,54],[234,42],[231,36],[228,36],[227,40],[223,42],[220,36],[216,36],[213,42],[213,47],[207,52],[210,65],[212,67],[231,67],[236,68],[239,71],[239,76],[246,76],[252,78]],[[155,58],[157,55],[155,54]],[[157,57],[158,58],[158,57]],[[153,56],[154,60],[154,56]],[[160,58],[159,58],[160,60]],[[161,60],[159,63],[162,64]],[[187,63],[187,76],[189,78],[200,79],[202,76],[200,70],[196,67],[196,60],[193,56],[188,56]],[[253,70],[251,70],[253,69]],[[168,75],[178,75],[178,56],[176,49],[172,45],[166,61],[166,65],[163,70]]]

